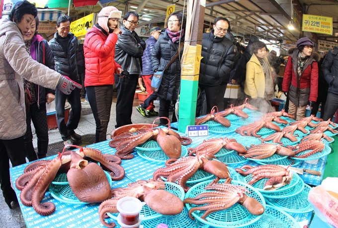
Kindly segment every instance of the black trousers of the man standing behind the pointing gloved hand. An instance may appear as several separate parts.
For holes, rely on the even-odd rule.
[[[65,103],[66,99],[72,107],[67,124],[65,123]],[[55,90],[55,111],[56,121],[61,137],[64,141],[71,138],[74,130],[78,128],[81,117],[81,99],[80,89],[75,88],[70,95],[62,93],[60,90]]]

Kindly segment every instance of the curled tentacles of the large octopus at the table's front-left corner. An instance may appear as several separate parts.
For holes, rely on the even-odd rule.
[[[120,165],[110,161],[118,161],[118,158],[114,158],[113,155],[105,156],[99,150],[82,148],[76,145],[72,146],[80,148],[80,150],[76,153],[78,153],[81,157],[89,157],[95,161],[98,161],[103,169],[110,171],[112,180],[117,181],[124,178],[124,169]],[[24,173],[15,181],[15,186],[21,191],[20,200],[23,205],[27,207],[33,207],[39,215],[48,216],[54,213],[55,205],[51,202],[45,202],[42,204],[40,204],[40,202],[45,196],[45,193],[51,182],[54,180],[56,174],[58,172],[68,171],[70,169],[71,155],[66,153],[64,148],[64,151],[59,153],[56,158],[34,163],[26,167]],[[70,176],[70,179],[79,178],[77,174],[75,175],[76,177]],[[82,183],[84,182],[86,182],[86,180],[82,180]],[[70,183],[70,185],[71,184],[72,183]],[[83,194],[85,195],[86,193]],[[91,194],[93,193],[91,192]],[[99,198],[100,196],[93,194],[92,197]]]

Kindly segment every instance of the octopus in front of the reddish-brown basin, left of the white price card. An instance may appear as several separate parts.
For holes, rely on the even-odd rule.
[[[135,132],[137,134],[134,134]],[[192,142],[190,138],[181,137],[178,133],[167,128],[134,128],[114,136],[109,145],[116,148],[116,156],[121,159],[131,159],[134,157],[131,154],[133,149],[150,139],[156,140],[169,158],[179,158],[181,156],[181,144],[188,145]]]

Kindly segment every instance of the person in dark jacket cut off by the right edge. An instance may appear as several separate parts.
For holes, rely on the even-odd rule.
[[[326,103],[330,105],[325,106],[323,117],[324,120],[328,120],[333,118],[338,109],[338,79],[336,79],[338,77],[338,47],[328,52],[322,65],[322,71],[325,80],[329,83]]]

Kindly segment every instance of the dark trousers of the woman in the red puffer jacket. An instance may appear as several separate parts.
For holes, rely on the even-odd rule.
[[[95,140],[96,142],[105,141],[113,102],[113,85],[88,86],[85,89],[96,123]]]

